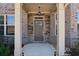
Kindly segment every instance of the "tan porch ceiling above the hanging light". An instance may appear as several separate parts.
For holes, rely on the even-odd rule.
[[[24,3],[23,9],[26,12],[38,12],[39,5],[40,5],[41,12],[55,12],[56,11],[55,3]]]

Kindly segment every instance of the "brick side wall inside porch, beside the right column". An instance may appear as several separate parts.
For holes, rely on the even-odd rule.
[[[50,15],[50,39],[49,42],[53,44],[54,47],[57,45],[56,37],[56,14]]]

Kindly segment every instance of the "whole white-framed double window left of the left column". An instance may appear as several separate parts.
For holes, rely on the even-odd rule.
[[[0,16],[0,35],[14,35],[14,15]]]

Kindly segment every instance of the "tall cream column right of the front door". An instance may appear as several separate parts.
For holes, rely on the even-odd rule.
[[[65,8],[64,3],[57,4],[57,55],[65,52]]]

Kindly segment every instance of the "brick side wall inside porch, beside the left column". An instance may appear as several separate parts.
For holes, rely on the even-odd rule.
[[[26,44],[29,42],[28,38],[28,14],[22,10],[22,43]]]

